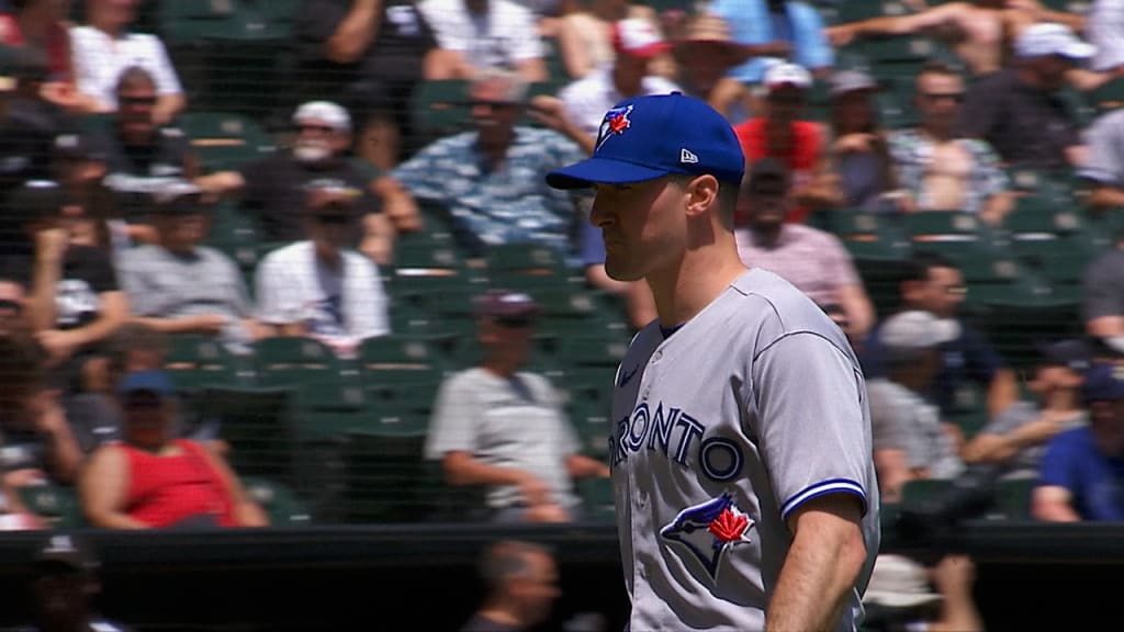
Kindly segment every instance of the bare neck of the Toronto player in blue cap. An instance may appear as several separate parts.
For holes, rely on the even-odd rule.
[[[660,325],[673,327],[690,320],[745,270],[732,244],[728,249],[709,244],[688,251],[673,268],[652,272],[647,283]]]

